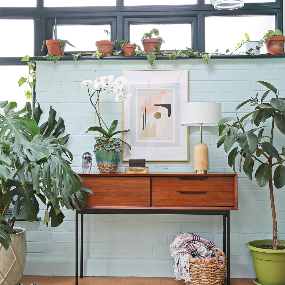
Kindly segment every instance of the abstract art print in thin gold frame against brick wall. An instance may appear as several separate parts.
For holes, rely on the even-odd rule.
[[[188,69],[123,70],[132,97],[123,102],[123,161],[189,161],[188,128],[180,105],[188,102]],[[124,144],[123,144],[124,145]]]

